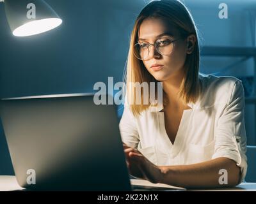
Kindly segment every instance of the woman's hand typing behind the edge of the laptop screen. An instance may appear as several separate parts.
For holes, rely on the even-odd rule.
[[[123,143],[127,167],[129,173],[139,179],[147,179],[157,183],[161,178],[161,170],[158,166],[148,161],[138,150],[132,149]]]

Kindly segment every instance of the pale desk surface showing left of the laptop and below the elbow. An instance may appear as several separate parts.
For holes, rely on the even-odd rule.
[[[0,176],[0,191],[19,191],[19,186],[15,176]],[[200,189],[196,191],[256,191],[256,183],[242,183],[234,188],[223,189]]]

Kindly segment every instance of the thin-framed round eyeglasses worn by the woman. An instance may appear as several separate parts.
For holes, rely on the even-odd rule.
[[[154,44],[150,43],[136,43],[134,45],[134,55],[138,59],[141,60],[147,60],[150,59],[149,53],[150,53],[150,46],[154,46],[156,48],[156,51],[161,55],[170,55],[173,51],[173,42],[180,40],[172,40],[172,38],[161,38],[156,41]]]

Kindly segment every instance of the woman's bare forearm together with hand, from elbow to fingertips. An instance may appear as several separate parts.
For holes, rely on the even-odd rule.
[[[232,187],[240,180],[240,168],[232,159],[220,157],[204,163],[180,166],[156,166],[138,150],[124,145],[127,165],[131,175],[147,179],[154,183],[169,184],[186,188]],[[227,184],[221,185],[219,180],[227,170]]]

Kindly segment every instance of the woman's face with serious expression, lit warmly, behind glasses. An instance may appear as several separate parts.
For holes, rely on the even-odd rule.
[[[161,55],[154,46],[149,47],[147,60],[143,60],[148,72],[163,82],[170,77],[182,75],[184,73],[184,63],[188,53],[188,39],[180,38],[179,31],[175,27],[167,26],[161,18],[145,19],[139,29],[139,43],[156,43],[161,39],[176,40],[173,42],[173,50],[170,55]],[[194,43],[195,44],[195,43]]]

